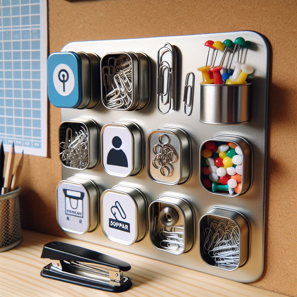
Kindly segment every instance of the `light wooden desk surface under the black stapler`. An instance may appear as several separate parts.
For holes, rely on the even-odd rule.
[[[74,239],[23,230],[23,243],[15,249],[0,253],[0,296],[285,296],[238,282],[214,277],[187,268],[126,252],[100,247]],[[51,262],[41,259],[43,245],[63,241],[94,249],[128,262],[132,269],[125,275],[132,279],[132,287],[115,295],[40,276],[41,269]]]

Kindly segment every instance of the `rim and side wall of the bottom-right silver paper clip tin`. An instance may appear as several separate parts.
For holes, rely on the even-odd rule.
[[[201,245],[201,234],[203,234],[203,232],[200,230],[201,227],[201,222],[203,221],[203,219],[208,216],[208,215],[214,215],[214,216],[218,216],[218,217],[224,217],[227,219],[231,219],[238,227],[238,230],[240,232],[240,249],[239,249],[239,264],[238,266],[236,266],[234,269],[226,269],[220,266],[213,266],[210,265],[209,263],[207,263],[204,260],[204,255],[202,255],[201,253],[201,249],[200,249],[200,245]],[[240,266],[243,266],[245,263],[248,262],[249,260],[249,255],[250,255],[250,236],[251,236],[251,226],[249,224],[249,220],[247,219],[247,217],[245,217],[242,213],[240,213],[239,211],[233,210],[233,209],[228,209],[228,208],[223,208],[223,207],[212,207],[210,208],[206,214],[204,214],[200,220],[199,220],[199,224],[198,224],[198,228],[199,228],[199,234],[198,234],[198,241],[199,241],[199,254],[201,259],[203,260],[203,262],[205,262],[208,266],[214,267],[214,268],[219,268],[225,271],[234,271],[237,268],[239,268]]]

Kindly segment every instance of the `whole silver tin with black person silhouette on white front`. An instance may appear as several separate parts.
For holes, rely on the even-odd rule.
[[[131,121],[105,124],[101,129],[101,160],[110,175],[133,176],[143,169],[143,133]]]

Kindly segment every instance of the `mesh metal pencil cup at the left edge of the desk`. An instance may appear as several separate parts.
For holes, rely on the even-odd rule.
[[[0,252],[13,249],[22,241],[20,225],[20,187],[0,195]]]

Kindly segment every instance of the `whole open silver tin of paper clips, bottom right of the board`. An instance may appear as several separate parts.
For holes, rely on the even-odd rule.
[[[217,228],[219,237],[216,236]],[[210,208],[199,221],[201,258],[207,265],[227,271],[244,265],[249,257],[249,230],[249,222],[240,212],[221,207]]]

